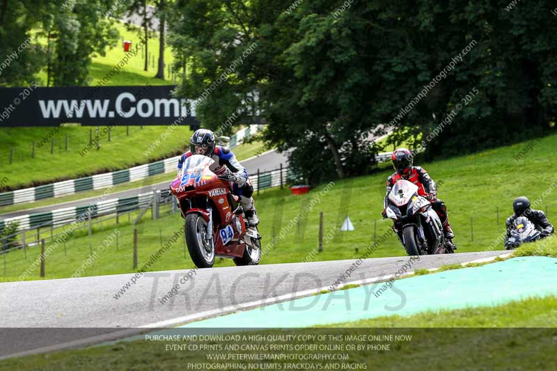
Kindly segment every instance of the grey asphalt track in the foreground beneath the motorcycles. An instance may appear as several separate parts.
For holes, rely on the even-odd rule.
[[[503,253],[423,256],[411,269],[432,269]],[[0,358],[95,344],[136,335],[146,327],[168,328],[315,294],[333,285],[355,262],[148,272],[118,299],[115,295],[131,282],[133,274],[0,283],[0,313],[4,313],[0,317]],[[408,262],[408,257],[362,260],[342,284],[384,281]],[[175,285],[178,294],[162,303]]]

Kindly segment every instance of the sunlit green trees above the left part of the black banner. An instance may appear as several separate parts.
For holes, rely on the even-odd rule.
[[[9,60],[0,84],[26,86],[47,70],[46,86],[86,85],[92,56],[118,38],[105,17],[114,2],[0,0],[0,56]]]

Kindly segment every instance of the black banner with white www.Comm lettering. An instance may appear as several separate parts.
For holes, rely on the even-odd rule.
[[[175,86],[0,88],[0,127],[100,125],[199,126],[195,102],[172,95]]]

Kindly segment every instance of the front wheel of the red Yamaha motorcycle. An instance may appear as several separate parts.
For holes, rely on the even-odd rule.
[[[187,214],[184,225],[187,250],[198,268],[211,268],[214,265],[214,246],[205,239],[207,222],[197,213]]]

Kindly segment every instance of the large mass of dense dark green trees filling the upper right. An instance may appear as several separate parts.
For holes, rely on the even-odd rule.
[[[217,128],[256,92],[269,124],[265,140],[293,149],[292,166],[310,181],[365,172],[374,152],[366,141],[381,124],[414,134],[429,155],[452,155],[544,134],[556,120],[550,1],[175,6],[171,45],[191,65],[180,95],[210,90],[198,115]],[[236,61],[225,81],[207,89]]]

